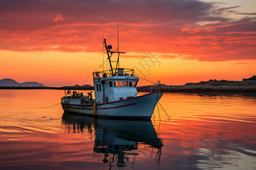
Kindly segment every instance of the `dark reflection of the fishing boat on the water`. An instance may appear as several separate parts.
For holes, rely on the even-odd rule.
[[[162,138],[151,121],[110,120],[64,112],[62,122],[68,133],[94,135],[93,157],[110,167],[112,163],[118,167],[134,163],[140,154],[160,162]]]

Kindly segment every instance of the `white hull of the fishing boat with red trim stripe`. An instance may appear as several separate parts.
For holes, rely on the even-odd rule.
[[[155,106],[163,96],[162,92],[132,97],[129,99],[96,104],[96,116],[117,118],[151,118]],[[80,100],[62,98],[65,112],[89,114],[93,116],[93,104],[80,104]]]

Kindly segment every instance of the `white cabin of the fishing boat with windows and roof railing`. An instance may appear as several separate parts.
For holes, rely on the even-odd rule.
[[[109,70],[93,73],[96,103],[109,103],[137,96],[139,78],[134,76],[133,70],[117,70],[117,75],[111,74]]]

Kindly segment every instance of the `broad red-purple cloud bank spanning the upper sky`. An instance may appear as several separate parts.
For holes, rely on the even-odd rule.
[[[102,52],[103,34],[117,46],[119,23],[120,49],[125,52],[199,61],[256,59],[253,13],[243,13],[244,18],[224,15],[237,14],[232,9],[240,6],[223,8],[196,0],[1,3],[1,50]]]

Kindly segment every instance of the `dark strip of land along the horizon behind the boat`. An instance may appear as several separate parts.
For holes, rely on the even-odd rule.
[[[2,79],[3,80],[3,79]],[[25,82],[18,84],[30,84],[28,87],[24,86],[2,86],[0,80],[0,89],[53,89],[53,90],[94,90],[93,86],[88,84],[84,86],[64,86],[64,87],[46,87],[42,83]],[[9,79],[9,82],[12,79]],[[13,80],[14,81],[14,80]],[[15,83],[16,81],[14,81]],[[16,82],[17,83],[17,82]],[[32,86],[32,84],[34,84]],[[42,84],[42,86],[35,86],[35,84]],[[233,80],[209,80],[199,83],[186,83],[184,85],[172,86],[166,84],[156,84],[154,86],[139,86],[138,91],[162,91],[162,92],[256,92],[256,75],[251,78],[245,78],[242,81]]]

